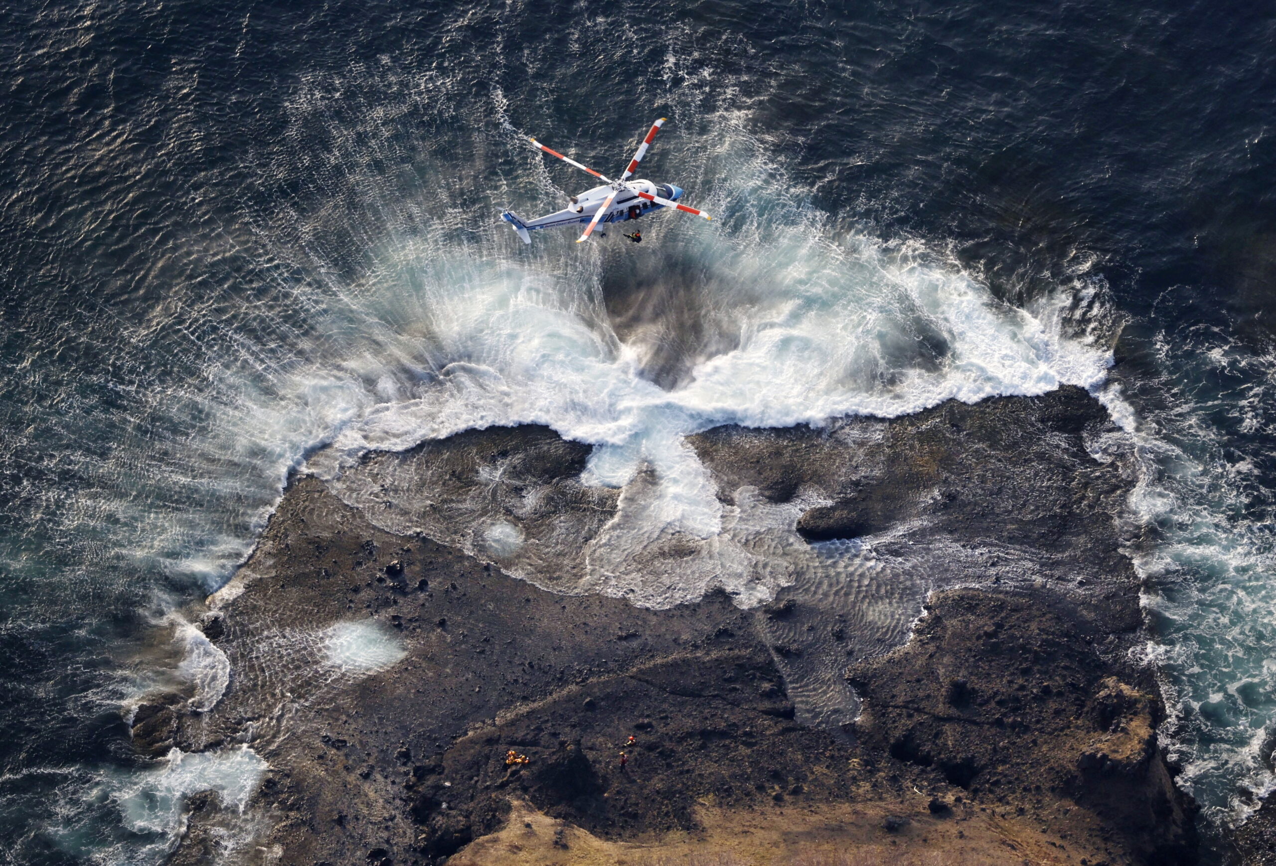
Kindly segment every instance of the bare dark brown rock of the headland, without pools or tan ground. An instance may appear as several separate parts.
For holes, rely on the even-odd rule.
[[[889,802],[901,821],[896,810],[912,804],[920,826],[948,814],[935,804],[1000,810],[1005,800],[1025,818],[1054,810],[1055,824],[1073,810],[1083,816],[1073,832],[1101,833],[1114,861],[1191,862],[1191,804],[1156,751],[1155,684],[1124,661],[1143,639],[1114,522],[1128,480],[1083,441],[1105,423],[1085,392],[1060,389],[689,439],[723,500],[748,487],[769,503],[815,490],[832,505],[801,515],[808,541],[903,527],[906,539],[883,550],[907,545],[929,557],[919,560],[928,579],[977,584],[937,593],[903,647],[906,631],[865,643],[856,611],[820,620],[789,589],[764,612],[722,593],[666,611],[554,594],[427,536],[378,529],[324,482],[297,477],[236,576],[242,592],[214,601],[232,662],[226,696],[198,719],[180,705],[139,709],[135,741],[188,751],[251,742],[272,767],[256,795],[272,824],[258,842],[281,846],[285,862],[362,862],[383,849],[434,866],[501,826],[510,797],[609,840],[694,833],[697,802]],[[581,488],[588,454],[523,427],[367,462],[404,497],[422,480],[436,485],[444,508],[496,473],[493,495],[509,509],[544,495],[518,517],[531,537],[561,520],[583,538],[616,496]],[[389,580],[375,583],[378,573]],[[398,579],[407,574],[416,592]],[[262,634],[359,617],[399,625],[392,634],[407,657],[332,682],[286,652],[264,654]],[[831,639],[864,701],[845,731],[801,723],[785,682],[824,658]],[[295,700],[286,732],[276,727],[281,682]],[[316,745],[322,736],[330,742]],[[200,828],[197,815],[179,856],[197,849]],[[902,844],[915,830],[891,832]]]

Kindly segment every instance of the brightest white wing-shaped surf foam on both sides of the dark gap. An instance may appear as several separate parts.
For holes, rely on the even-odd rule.
[[[419,383],[411,399],[382,403],[346,425],[309,467],[333,478],[371,449],[406,449],[476,427],[546,425],[595,445],[586,482],[627,487],[643,469],[657,481],[627,495],[595,546],[595,591],[665,606],[725,585],[755,603],[775,587],[746,585],[722,548],[704,564],[717,578],[685,571],[685,592],[670,592],[643,556],[658,537],[703,542],[723,532],[723,506],[685,436],[723,423],[893,417],[946,399],[1104,383],[1110,357],[1065,335],[1055,315],[1062,295],[1032,312],[1014,309],[920,245],[832,237],[809,214],[794,217],[798,224],[766,233],[683,240],[720,273],[709,284],[739,281],[748,291],[704,298],[726,310],[735,347],[693,363],[671,390],[643,376],[644,347],[623,343],[587,302],[577,281],[597,274],[429,263],[433,278],[419,274],[430,286],[427,327],[445,347],[440,357],[454,360]],[[462,272],[467,279],[454,282]]]

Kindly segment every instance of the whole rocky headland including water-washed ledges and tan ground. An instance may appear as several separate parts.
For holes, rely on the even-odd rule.
[[[688,444],[730,556],[655,533],[625,568],[735,568],[763,605],[591,591],[647,482],[584,486],[544,427],[296,476],[188,611],[221,699],[134,721],[151,755],[269,764],[244,814],[191,798],[172,862],[1198,861],[1132,661],[1133,472],[1088,394]]]

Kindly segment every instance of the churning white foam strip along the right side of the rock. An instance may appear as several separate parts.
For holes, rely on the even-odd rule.
[[[1234,825],[1276,791],[1276,555],[1254,454],[1222,429],[1253,431],[1276,358],[1212,334],[1162,351],[1176,380],[1156,383],[1166,406],[1132,440],[1139,480],[1131,513],[1156,538],[1134,552],[1155,634],[1142,658],[1161,676],[1162,735],[1182,767],[1175,782],[1208,820]],[[1211,418],[1219,412],[1233,417],[1220,425]]]

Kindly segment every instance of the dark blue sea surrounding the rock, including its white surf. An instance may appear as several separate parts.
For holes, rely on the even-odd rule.
[[[133,756],[170,676],[140,642],[320,445],[541,421],[703,534],[685,432],[1064,381],[1139,458],[1179,782],[1242,820],[1276,723],[1273,50],[1253,3],[9,4],[0,861],[157,862],[189,775],[246,796],[232,759]],[[657,116],[639,175],[712,223],[498,221],[592,185],[519,134],[610,173]]]

